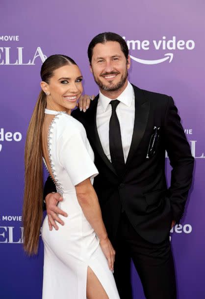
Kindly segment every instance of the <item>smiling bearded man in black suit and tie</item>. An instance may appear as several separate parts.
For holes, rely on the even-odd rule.
[[[121,299],[131,299],[130,260],[147,299],[175,299],[176,281],[169,241],[183,214],[194,160],[172,97],[141,90],[128,82],[125,40],[104,32],[88,47],[90,69],[100,88],[86,113],[72,116],[84,125],[95,153],[94,180],[103,221],[115,250],[114,277]],[[165,179],[165,150],[172,170]],[[80,157],[79,157],[80,158]],[[55,191],[47,180],[45,195]],[[61,199],[62,200],[62,199]],[[46,197],[50,226],[55,194]]]

